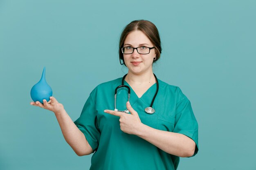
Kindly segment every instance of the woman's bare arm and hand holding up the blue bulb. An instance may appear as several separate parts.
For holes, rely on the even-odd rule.
[[[38,101],[31,102],[30,104],[54,112],[65,140],[74,150],[74,152],[76,152],[77,155],[83,156],[91,154],[92,148],[86,140],[85,135],[74,124],[70,116],[65,111],[63,105],[58,103],[58,101],[54,97],[50,97],[50,99],[51,100],[49,103],[44,100],[43,104]]]

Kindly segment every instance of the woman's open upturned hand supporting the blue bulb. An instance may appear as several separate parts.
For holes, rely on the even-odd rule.
[[[45,108],[47,110],[51,110],[52,112],[59,113],[62,110],[64,110],[63,104],[59,103],[54,97],[50,97],[50,101],[47,103],[45,99],[43,99],[43,104],[41,104],[39,101],[36,102],[30,102],[33,106],[39,106],[40,108]]]

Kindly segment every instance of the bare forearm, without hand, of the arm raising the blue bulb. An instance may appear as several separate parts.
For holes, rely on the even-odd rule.
[[[65,109],[55,113],[61,131],[67,143],[76,152],[77,155],[89,155],[92,153],[92,148],[85,138],[85,135],[77,128]]]

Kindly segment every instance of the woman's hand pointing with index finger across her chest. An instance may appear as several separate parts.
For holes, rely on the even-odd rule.
[[[126,103],[126,107],[131,114],[115,110],[104,110],[104,112],[120,117],[120,129],[125,133],[136,135],[142,125],[141,120],[138,113],[130,105],[130,102]]]

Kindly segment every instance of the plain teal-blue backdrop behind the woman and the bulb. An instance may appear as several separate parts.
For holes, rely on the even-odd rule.
[[[132,20],[162,40],[157,77],[179,86],[199,124],[199,152],[178,170],[256,170],[256,1],[0,0],[0,169],[86,170],[52,112],[31,106],[46,66],[76,120],[92,89],[123,76],[118,43]],[[114,96],[110,96],[114,97]]]

